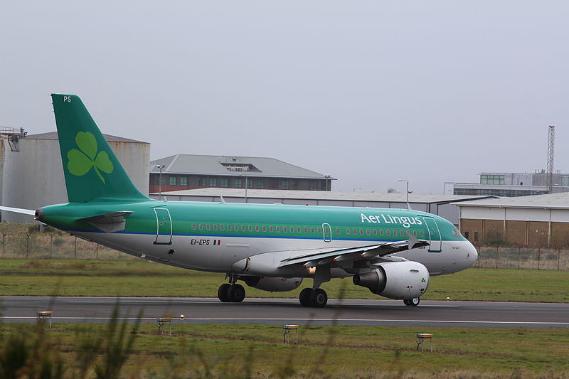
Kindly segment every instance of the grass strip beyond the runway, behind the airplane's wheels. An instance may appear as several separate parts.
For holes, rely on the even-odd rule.
[[[144,260],[0,260],[0,295],[216,297],[224,274],[196,272]],[[347,299],[375,299],[350,278],[324,283],[330,297],[345,285]],[[264,292],[245,286],[248,297],[298,297],[307,279],[292,292]],[[482,301],[569,301],[569,272],[518,269],[467,269],[432,277],[422,299]]]

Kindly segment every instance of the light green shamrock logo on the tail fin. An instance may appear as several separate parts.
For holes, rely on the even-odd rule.
[[[69,172],[75,176],[83,176],[90,169],[95,169],[97,176],[105,183],[105,178],[102,177],[100,171],[110,174],[115,169],[107,151],[100,151],[97,154],[97,139],[91,132],[78,132],[75,136],[75,143],[81,151],[78,149],[68,151],[67,168]]]

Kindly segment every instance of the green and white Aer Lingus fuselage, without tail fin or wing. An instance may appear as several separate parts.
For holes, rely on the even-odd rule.
[[[124,230],[115,233],[82,220],[117,210],[132,213],[127,213]],[[431,275],[458,272],[477,259],[474,247],[454,225],[414,210],[147,201],[50,205],[42,212],[43,223],[87,240],[148,260],[212,272],[233,272],[241,260],[254,261],[253,257],[269,253],[267,269],[250,273],[312,277],[308,267],[279,268],[277,263],[307,250],[401,241],[407,233],[429,240],[430,245],[398,256],[422,263]],[[339,262],[336,267],[348,270],[336,270],[336,277],[353,274],[353,267],[346,264]]]

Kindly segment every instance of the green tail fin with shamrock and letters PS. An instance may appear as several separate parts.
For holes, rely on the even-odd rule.
[[[51,99],[69,202],[149,200],[134,186],[81,99],[59,94]]]

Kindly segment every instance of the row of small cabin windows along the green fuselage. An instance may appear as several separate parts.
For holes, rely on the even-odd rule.
[[[267,226],[267,225],[241,225],[241,226],[239,226],[237,224],[219,224],[219,225],[218,224],[203,224],[203,223],[191,224],[191,230],[196,230],[196,229],[197,230],[204,230],[204,228],[205,228],[205,230],[222,230],[222,231],[225,231],[225,230],[233,231],[233,230],[235,230],[236,232],[238,232],[239,230],[242,232],[246,232],[246,231],[252,232],[253,230],[255,230],[255,232],[260,232],[260,231],[267,232],[267,230],[268,230],[270,233],[274,233],[275,231],[277,233],[281,233],[281,232],[282,233],[303,233],[303,232],[309,233],[309,230],[310,230],[310,233],[312,233],[312,234],[314,234],[314,233],[321,234],[322,233],[322,228],[320,228],[320,227],[317,227],[317,228],[310,227],[309,228],[307,226],[304,226],[304,227],[283,226],[281,228],[280,226],[272,226],[272,225],[269,225],[269,226]],[[295,232],[295,229],[296,229],[296,232]],[[378,229],[366,228],[366,229],[359,229],[358,230],[356,228],[353,228],[353,229],[346,228],[346,234],[347,235],[358,235],[358,231],[359,231],[359,235],[364,235],[364,234],[365,235],[384,235],[384,233],[385,233],[385,235],[392,235],[392,233],[393,233],[393,236],[400,235],[401,237],[403,237],[403,235],[405,234],[403,232],[403,230],[393,230],[392,231],[390,229],[386,229],[386,230],[379,229],[379,232],[378,232]],[[336,235],[339,235],[339,234],[340,234],[340,228],[336,228]],[[419,233],[417,230],[413,230],[413,236],[417,237],[417,235],[419,235],[420,237],[424,237],[425,233],[422,230],[419,230]]]

